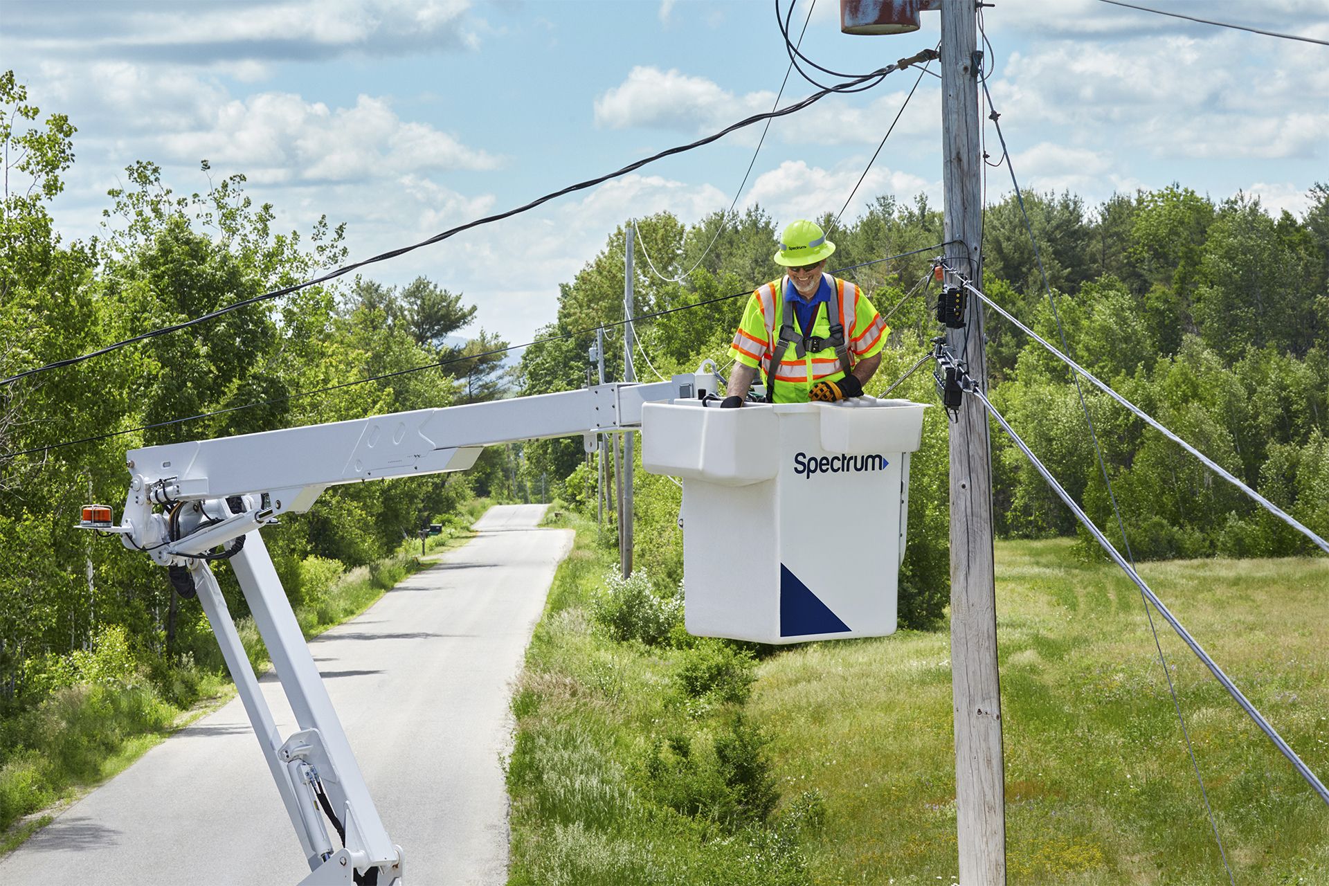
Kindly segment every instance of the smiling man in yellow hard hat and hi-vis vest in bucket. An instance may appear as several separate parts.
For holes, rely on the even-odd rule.
[[[832,252],[820,226],[799,219],[784,228],[775,263],[787,272],[748,299],[730,347],[735,364],[722,406],[742,406],[758,372],[767,402],[863,396],[890,329],[863,290],[824,272]]]

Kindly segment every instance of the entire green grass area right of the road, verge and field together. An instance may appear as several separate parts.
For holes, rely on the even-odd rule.
[[[528,659],[512,883],[956,881],[948,632],[777,651],[748,700],[698,711],[678,689],[695,654],[594,630],[587,595],[605,561],[579,545]],[[1142,573],[1329,774],[1329,562]],[[997,596],[1009,882],[1227,882],[1139,591],[1070,541],[1002,542]],[[1155,622],[1236,882],[1329,883],[1329,810]],[[766,737],[755,756],[780,794],[747,830],[707,825],[658,778],[661,760],[676,764],[662,743],[704,751],[735,717]]]

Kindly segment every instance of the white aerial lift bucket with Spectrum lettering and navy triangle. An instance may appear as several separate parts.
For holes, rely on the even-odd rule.
[[[924,409],[872,397],[649,404],[642,465],[683,478],[688,632],[759,643],[894,632]]]

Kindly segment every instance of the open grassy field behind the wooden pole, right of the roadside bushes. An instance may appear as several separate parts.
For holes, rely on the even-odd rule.
[[[1322,559],[1142,571],[1310,768],[1329,773]],[[997,545],[1009,882],[1217,883],[1139,591],[1073,542]],[[1329,882],[1329,813],[1155,614],[1237,883]],[[949,636],[821,643],[760,665],[784,785],[825,797],[817,883],[953,882]]]

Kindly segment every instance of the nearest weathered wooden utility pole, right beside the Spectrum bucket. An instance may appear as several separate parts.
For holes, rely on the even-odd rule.
[[[946,263],[975,284],[982,232],[978,120],[981,58],[973,0],[941,4],[942,182]],[[950,242],[957,240],[957,242]],[[948,278],[948,283],[958,280]],[[952,353],[986,391],[983,311],[970,298],[964,329],[948,329]],[[956,715],[956,810],[960,882],[1006,882],[1006,793],[997,676],[993,576],[991,446],[987,412],[965,397],[950,425],[950,672]]]

